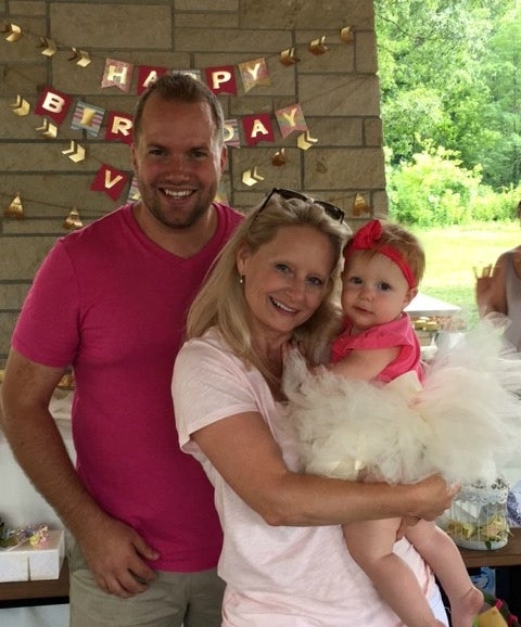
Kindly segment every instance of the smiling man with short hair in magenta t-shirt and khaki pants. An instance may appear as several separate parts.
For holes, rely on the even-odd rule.
[[[73,627],[220,625],[213,490],[179,450],[170,383],[187,309],[241,219],[213,202],[223,125],[202,82],[158,78],[135,115],[141,200],[56,242],[13,333],[3,426],[77,542]],[[76,469],[48,409],[68,366]]]

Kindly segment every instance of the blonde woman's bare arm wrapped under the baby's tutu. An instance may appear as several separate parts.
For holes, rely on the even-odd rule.
[[[229,486],[268,524],[335,525],[385,517],[434,520],[455,488],[437,475],[415,485],[353,483],[292,472],[260,414],[239,413],[192,439]]]

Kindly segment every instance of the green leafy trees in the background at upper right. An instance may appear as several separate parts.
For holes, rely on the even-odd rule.
[[[430,142],[446,151],[437,155],[441,162],[452,154],[450,165],[466,170],[454,171],[453,184],[434,194],[443,201],[436,201],[439,216],[463,219],[459,203],[466,194],[471,200],[486,196],[486,190],[474,189],[476,177],[495,190],[518,187],[521,10],[517,5],[517,0],[374,0],[390,167],[406,170],[402,165],[406,163],[418,169],[417,155]],[[443,167],[446,171],[448,165]],[[405,175],[396,172],[395,181]]]

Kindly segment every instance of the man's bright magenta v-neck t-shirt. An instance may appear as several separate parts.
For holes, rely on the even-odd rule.
[[[94,499],[161,553],[152,566],[215,566],[221,532],[200,464],[179,450],[170,395],[187,308],[241,220],[193,257],[155,245],[126,205],[60,239],[43,261],[13,346],[50,367],[73,364],[77,470]]]

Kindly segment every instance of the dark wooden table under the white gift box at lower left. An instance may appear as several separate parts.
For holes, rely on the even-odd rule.
[[[63,561],[59,579],[0,584],[0,609],[68,603],[68,563]]]

